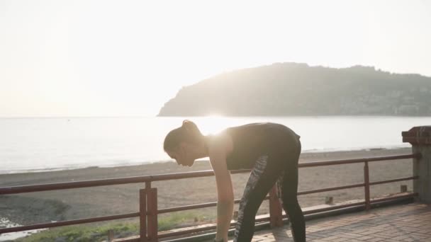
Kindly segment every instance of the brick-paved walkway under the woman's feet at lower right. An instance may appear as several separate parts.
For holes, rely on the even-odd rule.
[[[431,205],[412,203],[306,222],[308,242],[431,242]],[[293,241],[290,228],[257,231],[252,241]]]

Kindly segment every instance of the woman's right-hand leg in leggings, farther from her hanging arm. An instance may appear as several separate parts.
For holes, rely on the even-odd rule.
[[[281,201],[284,211],[291,222],[291,231],[296,242],[306,241],[306,222],[302,209],[298,204],[298,159],[301,154],[301,142],[298,142],[298,152],[289,155],[287,166],[281,180],[277,181],[281,190]],[[281,187],[281,189],[280,189]]]

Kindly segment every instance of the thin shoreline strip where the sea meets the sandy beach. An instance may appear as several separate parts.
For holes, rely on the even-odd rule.
[[[388,147],[359,147],[352,149],[308,149],[301,152],[301,154],[325,154],[334,152],[350,152],[350,151],[374,151],[374,150],[395,150],[395,149],[408,149],[409,146],[398,145],[398,146],[388,146]],[[206,160],[203,160],[206,161]],[[116,168],[125,166],[145,166],[152,163],[166,163],[172,162],[172,160],[158,160],[158,161],[143,161],[136,163],[119,163],[114,165],[101,165],[101,166],[71,166],[71,167],[58,167],[58,168],[30,168],[30,169],[20,169],[12,171],[0,171],[0,175],[9,174],[24,174],[24,173],[45,173],[45,172],[55,172],[55,171],[72,171],[87,168]]]

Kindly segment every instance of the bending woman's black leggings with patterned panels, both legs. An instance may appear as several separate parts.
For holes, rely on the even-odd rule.
[[[282,154],[268,154],[257,159],[240,202],[234,242],[249,242],[254,234],[254,217],[274,184],[279,200],[291,222],[294,241],[306,241],[306,224],[298,204],[298,159],[301,142]]]

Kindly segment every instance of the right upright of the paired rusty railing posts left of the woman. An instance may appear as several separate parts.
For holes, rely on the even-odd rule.
[[[147,238],[157,242],[157,188],[150,188],[147,193]]]

